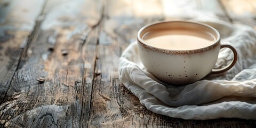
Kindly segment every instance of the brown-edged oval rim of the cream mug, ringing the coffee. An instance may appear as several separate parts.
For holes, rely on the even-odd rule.
[[[155,47],[155,46],[152,46],[152,45],[149,45],[147,43],[145,43],[141,38],[141,33],[143,32],[143,30],[145,30],[146,28],[150,27],[150,26],[154,26],[154,25],[158,25],[158,24],[161,24],[161,23],[167,23],[167,22],[182,22],[182,23],[194,23],[194,24],[197,24],[197,25],[202,25],[206,28],[209,28],[211,29],[212,31],[214,31],[214,33],[217,35],[217,38],[215,39],[214,43],[209,45],[209,46],[206,46],[206,47],[202,47],[202,48],[199,48],[199,49],[192,49],[192,50],[171,50],[171,49],[162,49],[162,48],[159,48],[159,47]],[[202,22],[197,22],[197,21],[193,21],[193,20],[163,20],[163,21],[156,21],[156,22],[153,22],[153,23],[149,23],[148,25],[146,26],[143,26],[139,31],[138,31],[138,34],[137,34],[137,39],[138,39],[138,42],[143,45],[145,48],[147,49],[151,49],[153,51],[159,51],[159,52],[163,52],[163,53],[176,53],[176,54],[186,54],[186,53],[198,53],[198,52],[203,52],[203,51],[208,51],[208,50],[211,50],[213,49],[214,47],[218,46],[218,44],[220,44],[220,33],[218,30],[216,30],[215,28],[213,28],[212,26],[209,26],[205,23],[202,23]]]

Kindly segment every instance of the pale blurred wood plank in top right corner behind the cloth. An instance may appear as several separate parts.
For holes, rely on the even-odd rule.
[[[242,23],[255,28],[256,1],[253,0],[219,0],[234,23]]]

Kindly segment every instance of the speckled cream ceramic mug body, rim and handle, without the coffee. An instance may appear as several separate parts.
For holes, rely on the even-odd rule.
[[[186,29],[203,31],[214,37],[212,45],[193,50],[169,50],[151,46],[142,37],[154,30]],[[159,42],[161,43],[161,42]],[[213,69],[221,48],[228,47],[234,53],[234,59],[221,69]],[[158,21],[142,27],[138,32],[138,48],[141,61],[147,71],[164,83],[185,85],[194,83],[206,75],[222,73],[233,67],[237,53],[231,43],[220,43],[220,34],[213,27],[195,21]]]

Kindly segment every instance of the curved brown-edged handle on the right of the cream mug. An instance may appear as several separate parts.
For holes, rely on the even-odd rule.
[[[230,68],[232,68],[236,61],[237,61],[237,52],[236,52],[236,49],[232,46],[231,43],[229,42],[226,42],[226,43],[222,43],[221,44],[221,47],[220,49],[224,48],[224,47],[227,47],[229,48],[230,50],[232,50],[233,54],[234,54],[234,59],[231,63],[229,63],[229,65],[227,65],[226,67],[223,67],[223,68],[220,68],[220,69],[212,69],[212,72],[211,74],[218,74],[218,73],[223,73],[224,71],[227,71],[229,70]]]

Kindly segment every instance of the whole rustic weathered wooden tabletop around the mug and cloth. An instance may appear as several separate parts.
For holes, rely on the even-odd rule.
[[[256,127],[147,110],[118,79],[137,31],[164,19],[256,26],[253,0],[0,1],[0,127]]]

